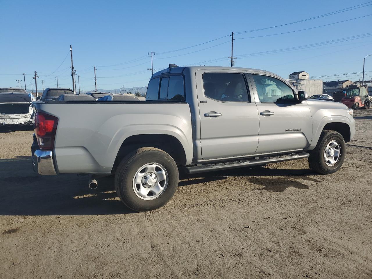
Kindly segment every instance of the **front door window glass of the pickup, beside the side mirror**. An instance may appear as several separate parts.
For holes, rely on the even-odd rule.
[[[253,80],[262,103],[288,103],[295,100],[291,87],[278,78],[254,74]]]

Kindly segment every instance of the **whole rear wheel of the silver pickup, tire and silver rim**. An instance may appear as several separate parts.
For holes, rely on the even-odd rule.
[[[121,201],[134,211],[165,205],[174,195],[179,174],[176,162],[163,150],[142,147],[128,154],[115,173],[115,189]]]

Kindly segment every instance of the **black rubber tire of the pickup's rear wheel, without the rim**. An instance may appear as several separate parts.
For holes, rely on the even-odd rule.
[[[151,163],[164,167],[168,174],[167,185],[157,198],[146,200],[144,198],[151,196],[140,198],[134,189],[136,187],[134,179],[141,167]],[[154,147],[142,147],[129,153],[119,164],[115,173],[115,190],[126,206],[142,212],[157,209],[169,202],[177,190],[178,181],[177,164],[168,153]]]

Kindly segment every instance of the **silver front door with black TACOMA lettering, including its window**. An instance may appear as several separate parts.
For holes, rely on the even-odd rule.
[[[312,119],[307,102],[299,103],[294,90],[278,77],[250,75],[259,112],[256,154],[302,150],[310,145]]]

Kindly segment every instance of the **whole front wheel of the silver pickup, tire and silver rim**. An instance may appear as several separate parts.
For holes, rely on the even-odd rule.
[[[308,157],[311,169],[321,174],[334,173],[340,169],[345,159],[345,141],[336,131],[322,131],[317,146]]]

